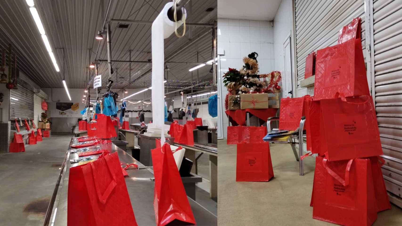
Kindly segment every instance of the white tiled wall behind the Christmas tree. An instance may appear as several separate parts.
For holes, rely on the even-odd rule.
[[[243,57],[252,52],[258,53],[257,61],[260,67],[260,74],[270,73],[275,70],[274,34],[271,22],[219,18],[217,40],[217,48],[224,50],[224,55],[220,56],[220,76],[226,73],[229,67],[240,70],[244,65]],[[227,90],[223,83],[221,84],[221,90],[222,109],[225,109],[224,98]],[[226,127],[229,122],[224,111],[222,112],[224,115],[221,118],[223,120],[224,137],[226,138]]]

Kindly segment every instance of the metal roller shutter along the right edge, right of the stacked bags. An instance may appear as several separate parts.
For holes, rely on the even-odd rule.
[[[373,1],[375,106],[391,202],[402,207],[402,4]]]

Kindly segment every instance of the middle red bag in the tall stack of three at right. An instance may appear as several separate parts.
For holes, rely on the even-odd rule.
[[[320,155],[329,161],[383,154],[371,96],[321,100],[319,120]]]

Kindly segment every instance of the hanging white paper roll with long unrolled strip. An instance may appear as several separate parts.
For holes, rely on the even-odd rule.
[[[162,128],[165,124],[164,115],[164,39],[170,37],[176,26],[179,27],[183,22],[177,23],[168,18],[168,10],[173,6],[173,2],[166,3],[163,10],[152,23],[152,120],[155,128]],[[187,16],[186,11],[183,16]],[[176,25],[177,24],[177,25]],[[160,136],[162,145],[165,143],[165,136]]]

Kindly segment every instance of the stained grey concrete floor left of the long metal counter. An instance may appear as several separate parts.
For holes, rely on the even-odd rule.
[[[42,226],[71,134],[0,154],[0,225]]]

